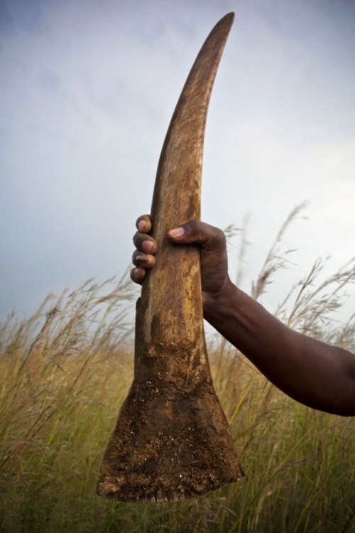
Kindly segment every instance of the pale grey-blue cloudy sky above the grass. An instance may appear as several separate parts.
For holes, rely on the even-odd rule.
[[[319,255],[334,268],[354,255],[353,1],[0,0],[1,317],[126,269],[185,77],[229,11],[204,220],[251,214],[246,284],[303,200],[309,220],[285,243],[300,249],[297,275]]]

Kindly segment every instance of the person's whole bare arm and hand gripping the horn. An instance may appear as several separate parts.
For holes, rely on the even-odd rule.
[[[131,279],[143,282],[155,264],[151,219],[136,222]],[[192,220],[168,232],[175,244],[200,244],[204,318],[285,394],[302,404],[355,416],[355,355],[288,328],[238,289],[228,275],[226,239],[216,227]]]

